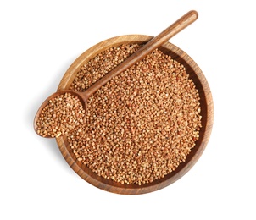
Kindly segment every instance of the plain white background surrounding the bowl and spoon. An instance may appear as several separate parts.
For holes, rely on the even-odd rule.
[[[256,219],[254,1],[0,1],[0,219]],[[81,179],[55,140],[33,130],[37,108],[70,64],[113,36],[173,37],[214,97],[209,145],[191,171],[145,195],[116,195]],[[254,209],[254,210],[253,210]]]

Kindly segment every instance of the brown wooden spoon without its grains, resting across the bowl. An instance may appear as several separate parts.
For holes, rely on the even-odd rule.
[[[47,106],[49,101],[54,97],[60,96],[64,93],[70,93],[74,96],[77,96],[81,104],[83,105],[84,109],[87,110],[87,100],[92,94],[97,91],[100,87],[105,85],[109,80],[114,78],[114,76],[122,73],[125,69],[129,69],[133,64],[137,63],[138,61],[145,58],[147,54],[153,52],[156,48],[160,47],[164,42],[170,40],[172,36],[175,36],[181,30],[185,29],[188,25],[191,25],[196,19],[198,19],[198,13],[196,11],[189,11],[188,13],[184,14],[180,19],[175,21],[174,24],[170,25],[164,31],[162,31],[158,36],[153,37],[151,41],[148,41],[143,47],[139,50],[131,54],[129,58],[126,58],[123,63],[120,63],[116,68],[111,70],[108,74],[105,74],[100,80],[97,80],[95,84],[89,87],[86,91],[79,92],[79,91],[71,91],[71,90],[63,90],[57,91],[53,93],[52,96],[47,97],[47,99],[42,103],[41,107],[39,107],[36,117],[34,119],[34,129],[37,134],[37,124],[36,121],[39,118],[42,109]],[[52,136],[45,136],[47,138],[51,138]]]

